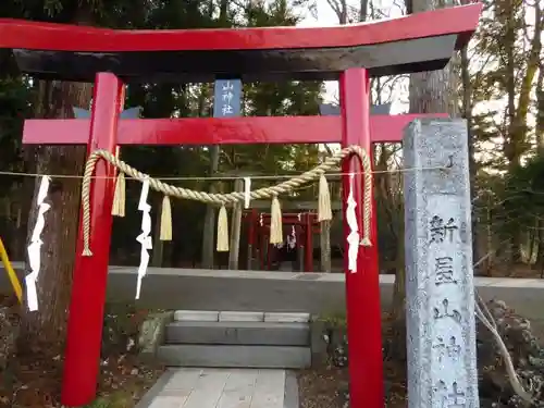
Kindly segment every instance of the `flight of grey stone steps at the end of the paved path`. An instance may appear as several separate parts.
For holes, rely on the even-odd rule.
[[[308,368],[309,320],[307,313],[178,310],[158,357],[170,367]]]

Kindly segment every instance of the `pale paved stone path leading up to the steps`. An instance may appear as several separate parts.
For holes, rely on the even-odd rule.
[[[298,408],[285,370],[169,369],[136,408]]]

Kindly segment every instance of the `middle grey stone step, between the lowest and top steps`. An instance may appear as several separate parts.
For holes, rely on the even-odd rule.
[[[173,322],[166,325],[166,344],[224,344],[309,346],[308,323]]]

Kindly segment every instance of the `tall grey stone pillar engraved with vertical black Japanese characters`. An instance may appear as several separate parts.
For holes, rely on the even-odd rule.
[[[413,121],[404,160],[408,407],[478,408],[466,121]]]

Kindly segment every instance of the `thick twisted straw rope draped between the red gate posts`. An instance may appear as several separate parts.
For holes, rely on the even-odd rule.
[[[370,242],[370,218],[371,218],[371,194],[372,194],[372,166],[370,162],[370,157],[367,151],[360,146],[349,146],[346,147],[333,156],[325,159],[325,161],[312,170],[309,170],[298,176],[289,178],[275,186],[263,187],[256,189],[250,193],[251,199],[263,199],[263,198],[274,198],[281,194],[292,191],[300,186],[319,180],[324,173],[335,169],[338,163],[350,156],[357,156],[361,162],[361,166],[364,171],[364,189],[363,189],[363,206],[362,206],[362,222],[363,222],[363,236],[361,244],[364,246],[371,246]],[[233,191],[228,194],[211,194],[205,191],[196,191],[188,188],[173,186],[161,182],[160,180],[153,178],[140,171],[128,165],[124,161],[120,160],[116,156],[110,153],[107,150],[95,150],[90,153],[85,164],[85,173],[82,183],[82,203],[83,203],[83,243],[84,249],[83,255],[90,257],[92,252],[90,251],[90,183],[92,182],[92,174],[95,172],[96,163],[99,159],[103,159],[110,164],[118,168],[124,174],[135,178],[139,182],[144,180],[149,181],[149,186],[156,191],[160,191],[165,196],[195,200],[206,203],[218,203],[224,206],[225,203],[234,203],[237,201],[244,201],[246,195],[245,193]]]

